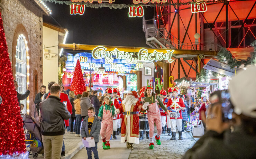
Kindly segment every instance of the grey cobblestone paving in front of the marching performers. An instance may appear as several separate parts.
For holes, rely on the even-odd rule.
[[[154,135],[156,135],[156,127]],[[195,140],[188,132],[182,134],[183,140],[178,140],[178,133],[176,133],[176,140],[170,140],[171,136],[165,133],[160,137],[161,145],[157,145],[154,140],[155,147],[153,150],[149,150],[149,140],[145,136],[144,133],[144,140],[139,140],[139,144],[134,145],[129,159],[180,159],[195,143]]]

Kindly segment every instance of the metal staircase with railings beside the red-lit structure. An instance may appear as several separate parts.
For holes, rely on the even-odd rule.
[[[185,45],[165,28],[157,29],[155,19],[145,20],[143,17],[143,31],[145,32],[146,44],[152,48],[185,49]]]

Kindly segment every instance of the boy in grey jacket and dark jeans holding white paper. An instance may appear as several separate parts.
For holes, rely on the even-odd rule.
[[[94,147],[86,147],[88,159],[92,159],[92,152],[95,159],[99,159],[97,143],[99,142],[99,134],[101,129],[100,119],[95,116],[95,108],[89,107],[88,116],[86,116],[82,123],[81,135],[83,140],[94,140]]]

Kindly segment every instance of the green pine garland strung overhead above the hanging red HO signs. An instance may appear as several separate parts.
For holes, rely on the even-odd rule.
[[[67,4],[67,5],[70,5],[70,4],[73,4],[73,2],[70,1],[62,1],[62,0],[44,0],[44,1],[48,1],[48,2],[51,2],[51,3],[58,3],[58,4]],[[207,1],[205,3],[214,3],[215,1]],[[218,1],[219,2],[224,2],[224,0],[220,0]],[[89,3],[89,2],[80,2],[80,4],[84,4],[86,7],[90,7],[90,8],[95,8],[95,9],[98,9],[98,8],[103,8],[103,7],[108,7],[110,9],[125,9],[125,8],[128,8],[128,7],[131,7],[131,6],[143,6],[143,7],[156,7],[156,6],[182,6],[182,5],[188,5],[188,4],[191,4],[191,3],[194,3],[193,1],[189,1],[189,2],[181,2],[181,3],[147,3],[147,4],[144,4],[144,3],[139,3],[139,4],[110,4],[110,3]]]

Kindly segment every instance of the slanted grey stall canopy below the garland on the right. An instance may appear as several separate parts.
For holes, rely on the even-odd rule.
[[[211,70],[213,72],[217,72],[222,75],[227,75],[227,76],[235,75],[235,70],[231,69],[228,66],[228,64],[221,63],[221,62],[219,62],[217,60],[213,60],[213,59],[210,59],[209,62],[206,65],[204,65],[203,68]]]

